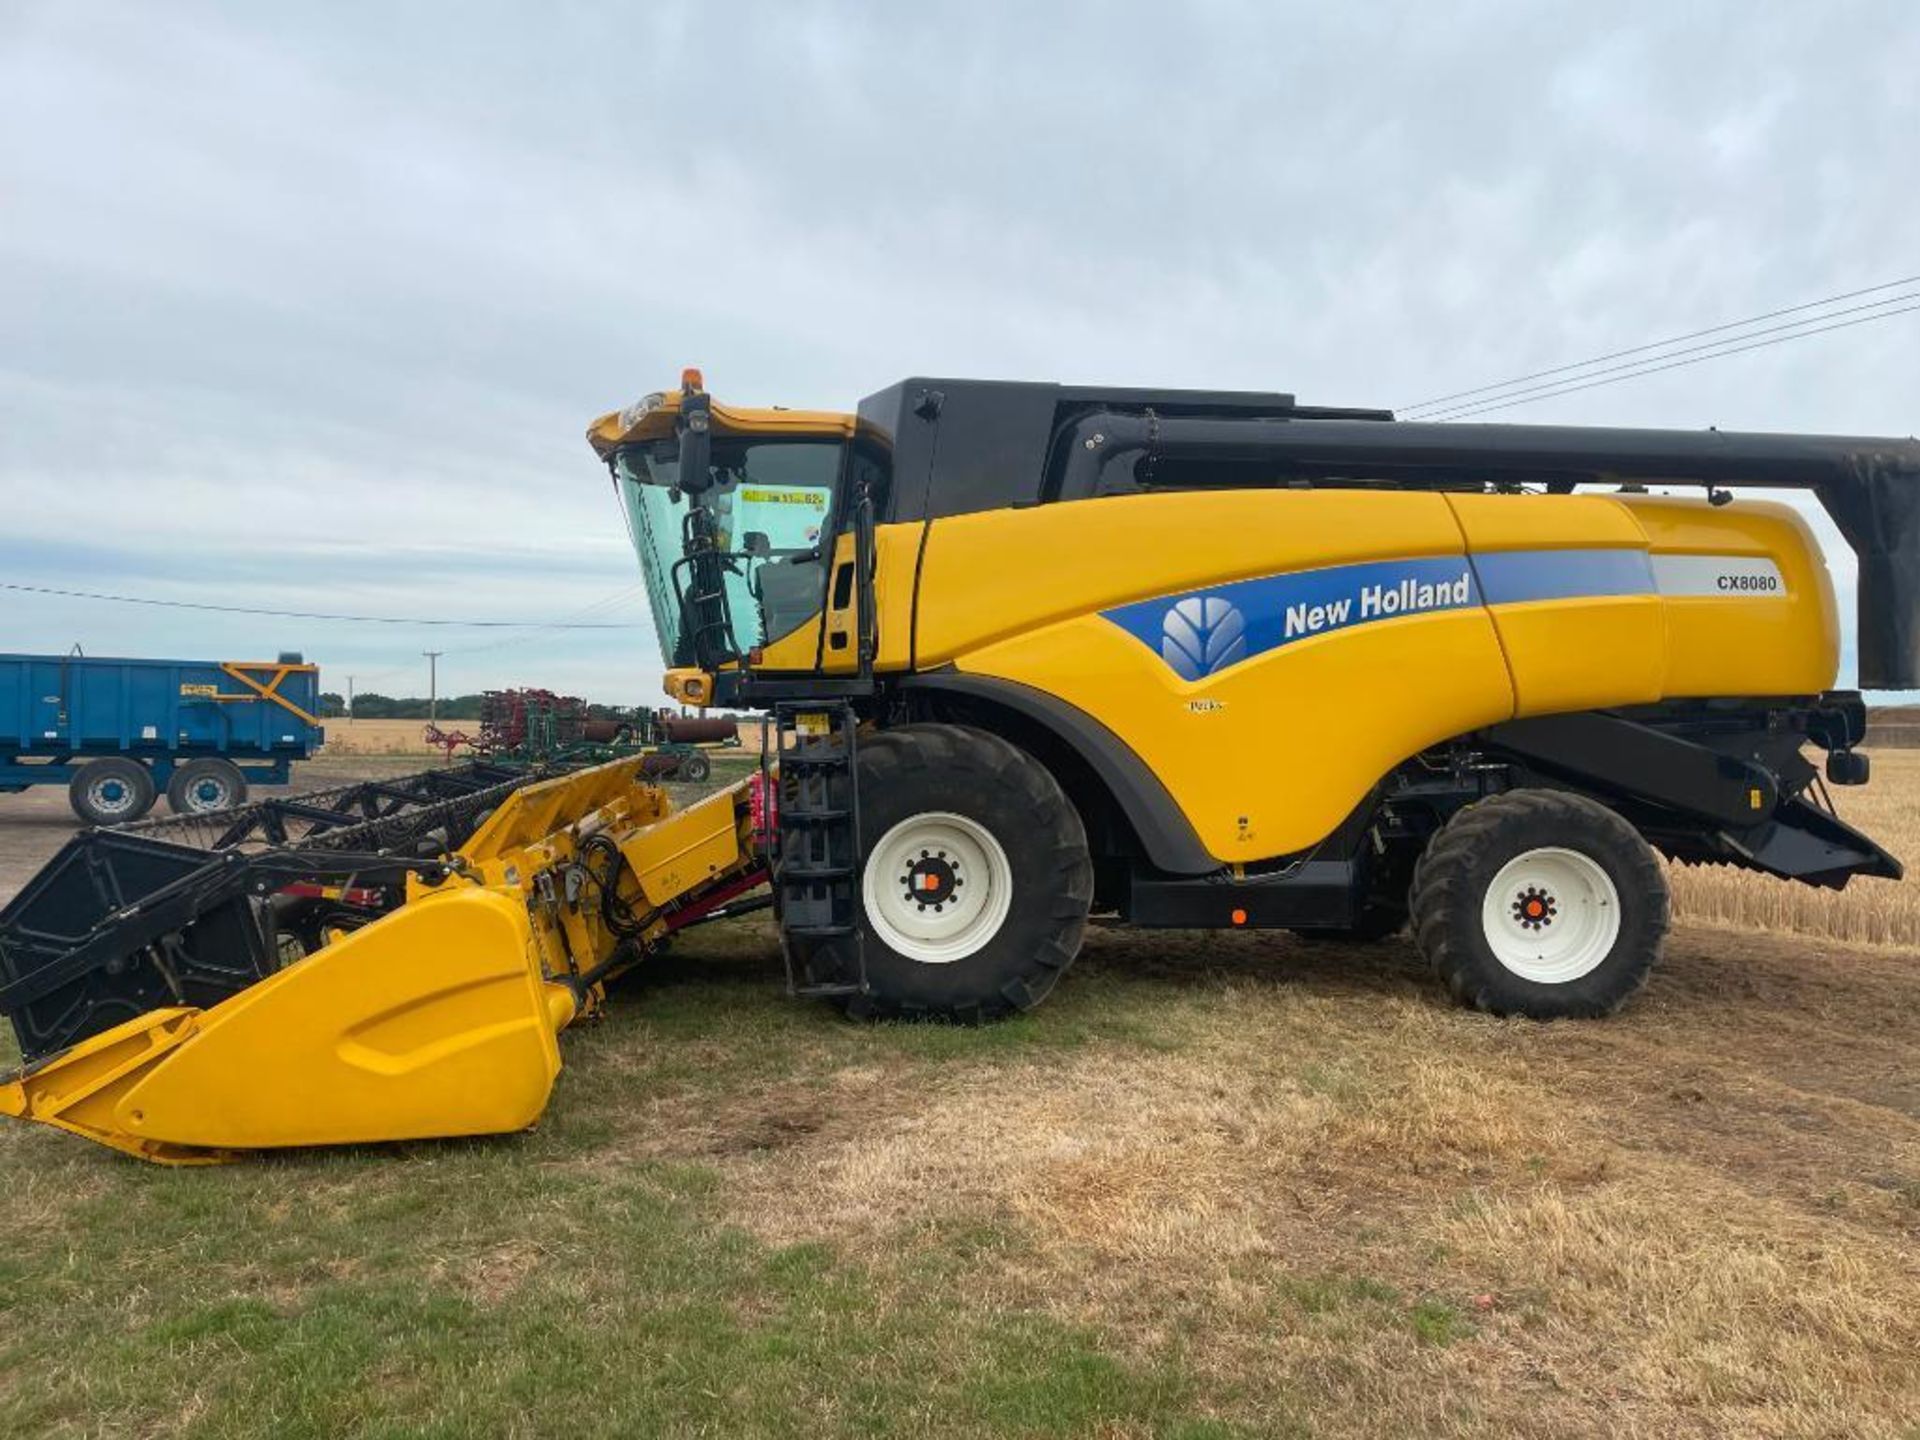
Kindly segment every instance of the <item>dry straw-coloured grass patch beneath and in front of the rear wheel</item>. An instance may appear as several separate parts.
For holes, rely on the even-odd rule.
[[[1603,1025],[1452,1010],[1404,941],[1087,964],[1075,1010],[1158,991],[1131,1041],[703,1091],[637,1144],[774,1244],[906,1284],[958,1244],[972,1304],[1179,1354],[1252,1432],[1912,1434],[1905,960],[1682,935]]]

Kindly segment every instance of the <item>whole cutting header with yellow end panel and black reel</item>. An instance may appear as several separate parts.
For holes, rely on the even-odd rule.
[[[532,1125],[611,979],[764,902],[756,781],[676,810],[649,760],[75,837],[0,910],[0,1114],[182,1165]]]

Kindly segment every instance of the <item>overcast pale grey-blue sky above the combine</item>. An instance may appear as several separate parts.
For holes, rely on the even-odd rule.
[[[682,365],[1404,405],[1920,273],[1916,77],[1912,0],[0,0],[0,580],[636,624],[0,591],[0,649],[653,701],[582,430]],[[1916,411],[1920,315],[1500,419]]]

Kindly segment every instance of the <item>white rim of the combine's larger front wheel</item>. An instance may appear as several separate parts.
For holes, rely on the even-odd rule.
[[[860,899],[889,950],[947,966],[1000,933],[1014,902],[1014,868],[977,820],[927,810],[897,824],[868,851]]]

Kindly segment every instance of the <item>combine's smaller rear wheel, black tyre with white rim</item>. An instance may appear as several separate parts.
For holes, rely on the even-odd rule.
[[[1413,872],[1413,937],[1448,989],[1496,1016],[1605,1016],[1667,937],[1667,876],[1597,801],[1517,789],[1469,804]]]

